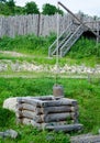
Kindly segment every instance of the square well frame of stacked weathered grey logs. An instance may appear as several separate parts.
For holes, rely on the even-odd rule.
[[[74,99],[46,97],[18,98],[18,122],[40,129],[78,123],[78,105]]]

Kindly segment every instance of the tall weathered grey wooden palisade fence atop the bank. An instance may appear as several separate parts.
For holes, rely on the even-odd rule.
[[[93,31],[97,31],[96,22],[91,16],[82,16],[79,13],[77,14],[78,20],[81,19],[85,25],[91,28]],[[0,16],[0,37],[7,35],[14,37],[15,35],[25,35],[25,34],[35,34],[46,36],[51,32],[56,33],[56,19],[55,15],[42,15],[38,18],[38,14],[29,14],[29,15],[15,15],[15,16]],[[66,25],[69,25],[74,21],[74,18],[70,14],[59,15],[59,33],[62,33]],[[100,31],[100,25],[99,25]]]

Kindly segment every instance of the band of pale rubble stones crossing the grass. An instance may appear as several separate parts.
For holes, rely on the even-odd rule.
[[[96,65],[93,68],[87,67],[85,65],[67,65],[59,66],[57,69],[57,65],[49,66],[48,65],[36,65],[34,63],[29,62],[11,62],[8,59],[0,61],[0,72],[7,72],[8,69],[12,72],[51,72],[51,73],[69,73],[69,74],[100,74],[100,65]]]

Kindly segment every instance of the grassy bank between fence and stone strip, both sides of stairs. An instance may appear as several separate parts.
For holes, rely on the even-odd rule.
[[[16,36],[15,38],[3,37],[0,40],[0,50],[2,51],[15,51],[26,56],[16,57],[11,54],[1,54],[0,59],[11,59],[15,61],[26,61],[34,62],[36,64],[51,64],[56,63],[55,57],[48,57],[48,47],[56,38],[55,34],[49,36],[35,36],[35,35],[24,35]],[[81,37],[77,43],[71,47],[71,51],[64,57],[59,58],[59,65],[64,66],[65,64],[69,65],[81,65],[95,66],[100,64],[100,44],[96,46],[96,41],[92,38]]]

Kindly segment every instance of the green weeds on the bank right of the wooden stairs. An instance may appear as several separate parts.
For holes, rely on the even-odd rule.
[[[100,44],[96,45],[96,40],[81,37],[70,50],[73,58],[84,58],[90,56],[100,56]]]

